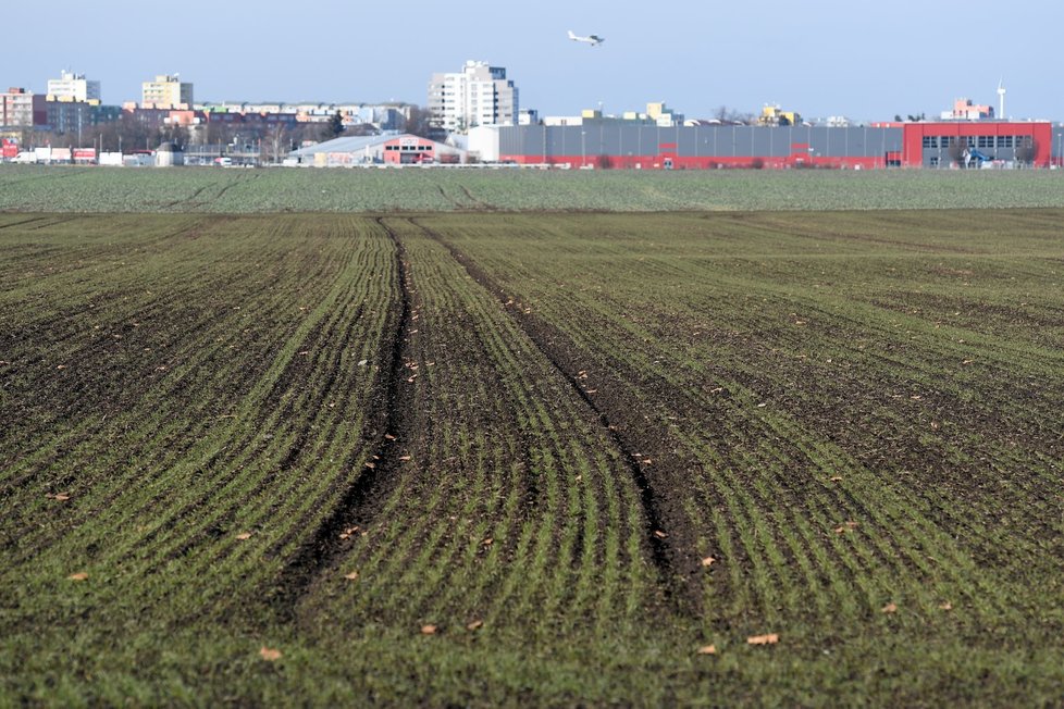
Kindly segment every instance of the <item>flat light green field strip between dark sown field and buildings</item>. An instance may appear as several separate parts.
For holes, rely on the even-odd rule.
[[[0,165],[0,211],[418,212],[1064,207],[1056,171],[518,171]]]

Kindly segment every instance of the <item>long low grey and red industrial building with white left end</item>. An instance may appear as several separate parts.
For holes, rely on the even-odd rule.
[[[566,126],[481,126],[470,130],[469,150],[484,162],[573,169],[1049,167],[1062,164],[1064,128],[1011,121],[660,127],[595,119]]]

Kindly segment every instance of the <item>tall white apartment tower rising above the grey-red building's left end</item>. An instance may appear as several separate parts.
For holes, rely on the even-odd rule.
[[[516,125],[518,90],[506,69],[468,61],[460,72],[433,74],[429,83],[432,125],[466,133],[481,125]]]

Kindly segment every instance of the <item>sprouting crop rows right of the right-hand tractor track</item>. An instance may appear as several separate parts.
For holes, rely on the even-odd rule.
[[[982,216],[434,224],[557,329],[614,413],[643,414],[621,434],[683,500],[689,553],[715,560],[708,637],[830,644],[894,604],[914,645],[988,627],[1044,643],[1064,571],[1060,250],[1047,214]],[[884,303],[935,290],[964,312]],[[968,325],[1020,301],[1050,329]],[[1032,607],[1055,620],[1029,627]]]

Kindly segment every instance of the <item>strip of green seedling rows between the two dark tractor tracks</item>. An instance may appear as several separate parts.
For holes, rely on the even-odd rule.
[[[403,455],[380,522],[352,533],[304,612],[329,618],[329,633],[381,619],[482,623],[485,637],[630,623],[654,579],[617,451],[440,244],[408,221],[386,226],[409,273],[398,386],[416,415],[393,430]]]

